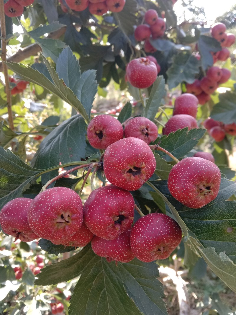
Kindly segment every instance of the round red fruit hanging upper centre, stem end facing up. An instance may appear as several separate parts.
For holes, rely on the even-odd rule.
[[[155,82],[157,68],[154,62],[141,57],[133,59],[128,63],[126,75],[132,86],[138,89],[145,89]]]

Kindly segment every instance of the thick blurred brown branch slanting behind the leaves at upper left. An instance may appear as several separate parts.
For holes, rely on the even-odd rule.
[[[1,0],[3,1],[3,0]],[[1,10],[2,12],[2,10]],[[3,10],[3,15],[4,15],[4,10]],[[2,19],[1,19],[2,20]],[[52,32],[48,35],[46,38],[53,38],[53,39],[58,39],[62,35],[65,34],[66,31],[66,26],[60,28],[59,30]],[[2,35],[3,37],[3,35]],[[24,49],[18,50],[17,53],[12,55],[11,57],[7,58],[4,61],[12,61],[12,62],[20,62],[26,58],[29,58],[30,56],[36,56],[40,51],[42,51],[41,47],[38,44],[31,44],[27,46]],[[3,60],[3,59],[2,59]],[[0,72],[3,71],[3,62],[0,62]]]

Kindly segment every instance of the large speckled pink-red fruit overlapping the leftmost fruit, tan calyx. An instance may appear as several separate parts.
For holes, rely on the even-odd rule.
[[[49,188],[32,201],[28,221],[31,229],[40,237],[50,241],[66,240],[81,228],[81,198],[70,188]]]

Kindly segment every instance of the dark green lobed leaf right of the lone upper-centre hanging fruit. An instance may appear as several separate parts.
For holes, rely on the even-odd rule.
[[[173,58],[171,67],[167,70],[169,89],[177,87],[181,82],[193,83],[199,73],[200,61],[188,52],[180,52]]]

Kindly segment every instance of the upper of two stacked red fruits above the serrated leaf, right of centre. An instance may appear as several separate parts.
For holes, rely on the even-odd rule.
[[[187,114],[197,117],[198,111],[198,99],[195,95],[185,93],[178,96],[175,100],[173,116],[178,114]]]

